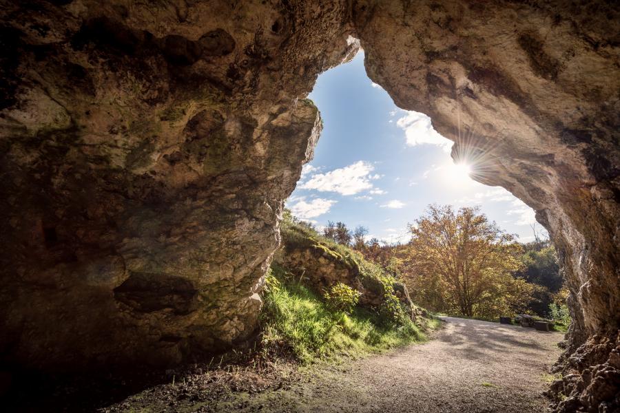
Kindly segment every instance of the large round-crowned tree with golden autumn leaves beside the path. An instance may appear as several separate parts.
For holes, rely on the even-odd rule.
[[[408,281],[420,304],[486,318],[526,308],[533,286],[513,277],[521,246],[479,208],[431,205],[409,230]]]

